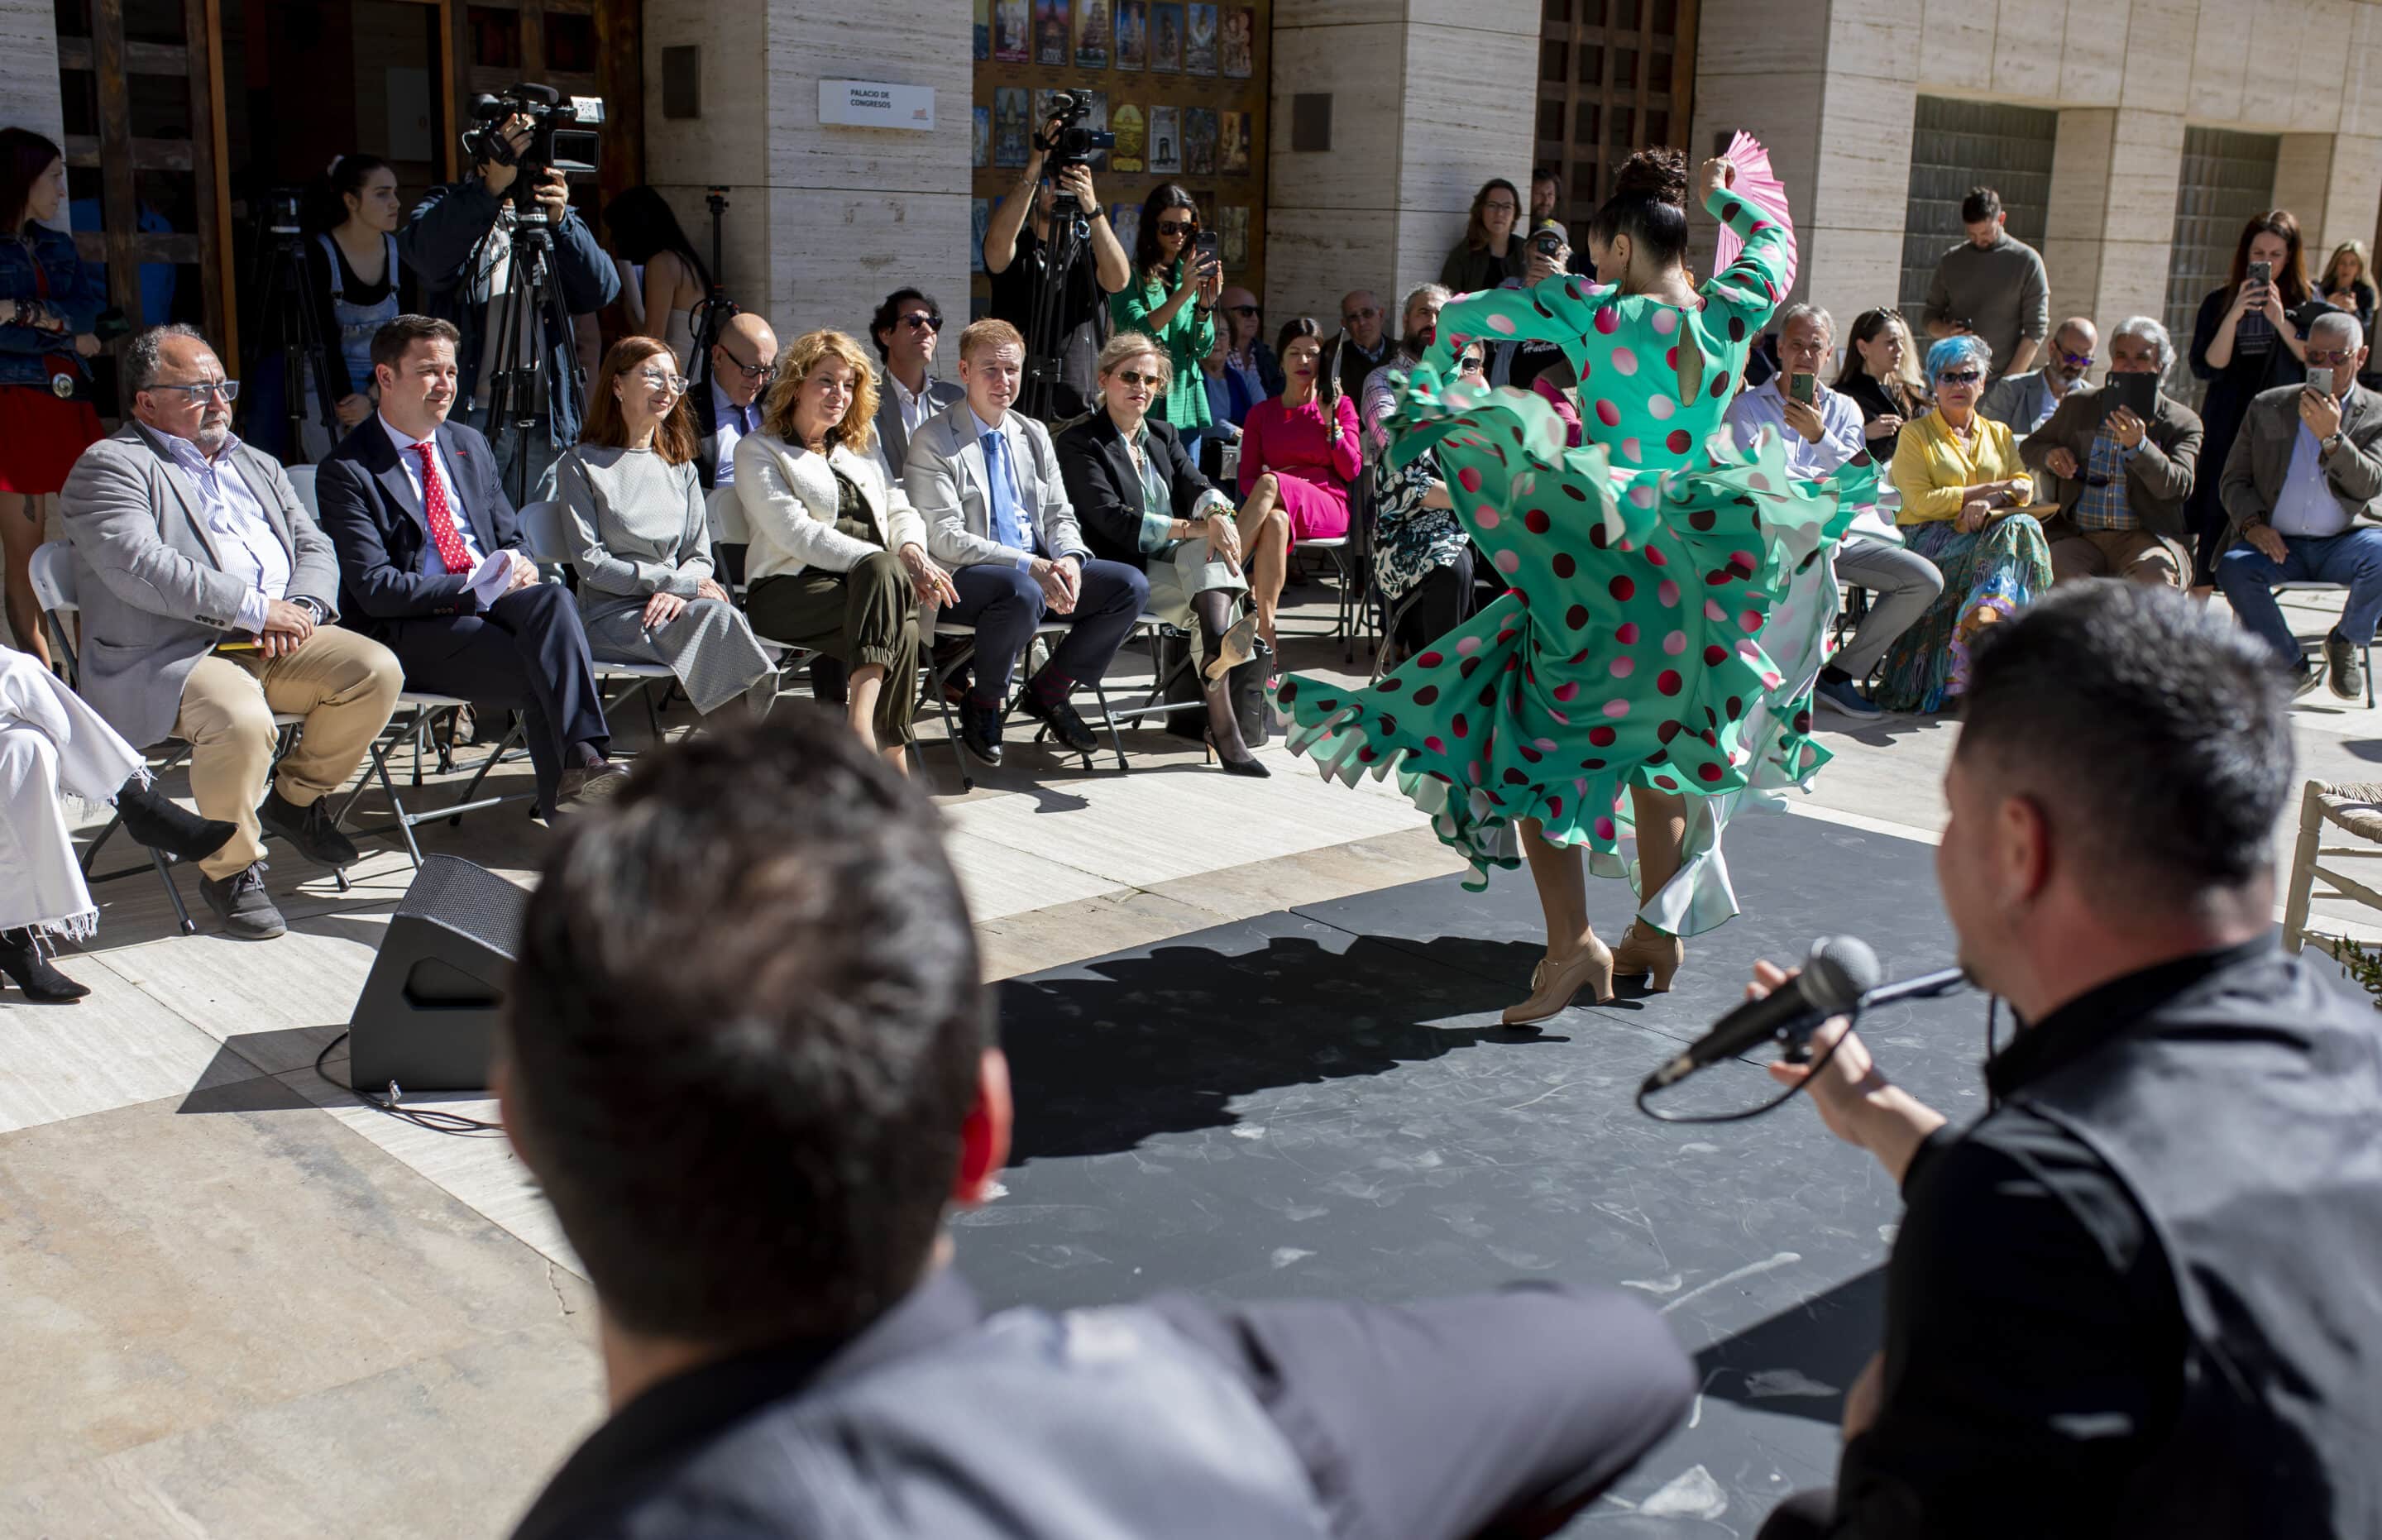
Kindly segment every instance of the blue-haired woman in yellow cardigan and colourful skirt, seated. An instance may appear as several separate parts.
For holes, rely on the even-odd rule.
[[[1896,638],[1879,669],[1877,705],[1939,712],[1968,688],[1968,645],[2051,588],[2051,547],[2027,507],[2034,481],[2018,438],[1977,412],[1994,352],[1972,336],[1927,350],[1937,409],[1903,424],[1894,447],[1896,524],[1903,543],[1937,564],[1944,593]]]

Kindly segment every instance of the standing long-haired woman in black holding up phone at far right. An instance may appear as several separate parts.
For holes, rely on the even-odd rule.
[[[2215,583],[2230,519],[2218,495],[2218,474],[2232,457],[2234,436],[2249,402],[2263,390],[2296,386],[2308,352],[2308,326],[2332,309],[2308,286],[2299,245],[2299,219],[2268,209],[2241,226],[2232,276],[2201,300],[2191,326],[2191,374],[2208,381],[2201,397],[2201,459],[2210,467],[2191,488],[2194,536],[2191,586]]]

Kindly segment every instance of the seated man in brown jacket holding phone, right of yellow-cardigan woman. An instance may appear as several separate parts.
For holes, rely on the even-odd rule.
[[[2065,348],[2053,336],[2053,367]],[[2163,381],[2172,362],[2168,328],[2127,317],[2108,338],[2110,383],[2072,390],[2018,445],[2027,469],[2049,471],[2060,493],[2060,512],[2044,521],[2053,583],[2118,576],[2180,588],[2191,571],[2184,505],[2201,459],[2201,419],[2165,390],[2151,397],[2149,421],[2115,397],[2118,376]]]

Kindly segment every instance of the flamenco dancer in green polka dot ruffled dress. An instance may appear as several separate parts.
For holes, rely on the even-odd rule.
[[[1291,676],[1289,745],[1327,776],[1396,774],[1472,862],[1529,862],[1546,959],[1513,1026],[1613,995],[1615,974],[1670,988],[1682,935],[1736,912],[1720,833],[1748,797],[1808,783],[1810,683],[1834,612],[1827,547],[1877,497],[1867,457],[1796,481],[1772,433],[1727,426],[1746,352],[1794,274],[1794,231],[1703,167],[1703,202],[1744,238],[1696,286],[1686,164],[1641,150],[1589,231],[1598,283],[1548,278],[1455,300],[1408,378],[1391,457],[1436,452],[1458,517],[1510,590],[1370,688]],[[1551,340],[1572,362],[1586,443],[1546,400],[1491,390],[1451,362],[1467,338]],[[1627,795],[1625,795],[1627,793]],[[1632,876],[1639,916],[1608,950],[1586,871]]]

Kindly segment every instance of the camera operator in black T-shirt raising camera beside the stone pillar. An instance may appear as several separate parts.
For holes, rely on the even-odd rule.
[[[996,321],[1008,321],[1031,343],[1043,283],[1065,283],[1055,336],[1046,338],[1046,348],[1060,362],[1060,383],[1050,405],[1053,419],[1081,417],[1091,409],[1089,402],[1098,390],[1100,343],[1108,340],[1103,336],[1105,295],[1122,290],[1134,278],[1134,264],[1124,257],[1124,245],[1108,226],[1108,209],[1100,207],[1100,195],[1091,186],[1091,167],[1072,164],[1055,176],[1043,176],[1043,164],[1050,159],[1043,145],[1055,143],[1067,121],[1067,117],[1053,117],[1043,124],[1041,138],[1034,140],[1034,155],[1017,176],[1017,190],[1000,200],[993,221],[984,229],[984,271],[993,278],[989,314]],[[1058,202],[1060,190],[1074,195],[1091,224],[1091,262],[1086,264],[1077,252],[1072,269],[1053,278],[1048,271],[1050,205]],[[1027,209],[1034,209],[1031,226]]]

